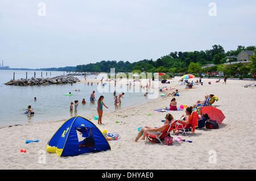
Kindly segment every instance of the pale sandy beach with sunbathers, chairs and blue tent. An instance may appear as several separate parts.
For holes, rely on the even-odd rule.
[[[218,96],[213,106],[220,109],[225,119],[219,129],[197,129],[181,137],[192,142],[175,142],[173,145],[161,145],[139,140],[133,142],[138,134],[137,128],[144,125],[160,127],[166,113],[174,119],[180,119],[184,111],[154,111],[169,107],[173,96],[160,96],[147,104],[131,108],[118,108],[117,111],[103,113],[101,125],[86,116],[97,127],[108,133],[118,133],[119,140],[109,141],[112,150],[97,153],[86,153],[75,157],[59,157],[46,151],[47,142],[65,120],[49,123],[31,123],[2,127],[0,169],[121,169],[121,170],[180,170],[180,169],[256,169],[256,125],[255,93],[256,87],[243,87],[255,81],[203,78],[204,85],[195,85],[195,89],[184,89],[180,86],[180,77],[170,80],[170,84],[160,86],[172,87],[171,91],[179,90],[176,96],[177,105],[192,106],[197,100],[204,100],[204,95]],[[189,81],[196,81],[196,78]],[[99,79],[81,82],[99,82]],[[210,85],[208,82],[212,82]],[[113,82],[112,82],[113,83]],[[168,94],[170,89],[164,91]],[[162,94],[162,93],[161,93]],[[123,102],[125,102],[122,99]],[[113,104],[114,106],[114,104]],[[95,112],[97,115],[97,112]],[[150,115],[150,116],[148,116]],[[67,117],[69,119],[70,117]],[[118,121],[119,123],[116,123]],[[26,144],[26,140],[40,140]],[[20,149],[26,153],[20,153]],[[212,159],[214,158],[214,159]]]

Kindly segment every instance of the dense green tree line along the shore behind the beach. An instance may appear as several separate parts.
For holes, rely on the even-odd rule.
[[[116,72],[133,72],[133,71],[145,71],[145,72],[161,72],[161,73],[204,73],[212,71],[224,71],[229,75],[237,73],[246,74],[251,71],[251,66],[248,64],[238,65],[236,71],[233,68],[233,64],[230,65],[232,69],[226,70],[227,56],[237,56],[242,50],[255,50],[255,46],[238,46],[236,50],[229,50],[225,52],[221,45],[213,45],[210,50],[201,50],[194,52],[171,52],[166,56],[162,56],[157,60],[141,60],[138,62],[130,63],[129,61],[105,61],[96,62],[94,64],[77,65],[76,71],[93,71],[93,72],[109,72],[110,68],[115,68]],[[236,58],[232,58],[230,61],[237,61]],[[201,66],[206,64],[215,64],[212,68],[201,69]],[[242,67],[242,68],[241,68]],[[242,69],[242,70],[240,70]],[[254,71],[255,72],[255,71]]]

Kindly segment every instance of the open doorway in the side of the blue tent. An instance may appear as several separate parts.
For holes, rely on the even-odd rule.
[[[79,139],[79,148],[85,148],[85,147],[94,147],[94,137],[92,133],[92,128],[76,128],[77,131],[77,137]]]

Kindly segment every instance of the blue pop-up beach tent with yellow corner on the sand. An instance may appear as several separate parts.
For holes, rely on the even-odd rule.
[[[95,124],[75,116],[61,125],[48,141],[46,150],[59,156],[74,156],[110,149],[108,140]]]

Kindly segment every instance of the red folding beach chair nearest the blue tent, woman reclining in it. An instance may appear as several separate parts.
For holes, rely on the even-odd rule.
[[[154,142],[154,143],[162,143],[163,144],[163,139],[165,137],[168,136],[168,134],[170,134],[170,132],[172,130],[175,129],[175,121],[173,121],[172,123],[168,124],[166,129],[164,129],[163,132],[152,132],[150,131],[150,133],[154,133],[154,135],[151,135],[151,134],[146,134],[146,141],[145,141],[145,144],[147,143],[147,140],[151,141],[151,142]],[[163,144],[164,145],[164,144]]]

